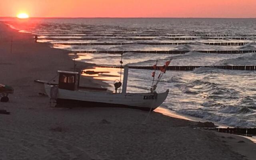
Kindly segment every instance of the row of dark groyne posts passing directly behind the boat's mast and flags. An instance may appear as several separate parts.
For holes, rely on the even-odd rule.
[[[121,68],[121,66],[97,66],[100,68]],[[161,66],[158,66],[159,70]],[[209,68],[218,68],[224,70],[247,70],[254,71],[256,70],[256,66],[168,66],[166,70],[176,70],[176,71],[192,71],[196,68],[200,67],[209,67]],[[123,68],[123,67],[122,67]],[[130,69],[143,69],[143,70],[153,70],[152,66],[129,66]]]

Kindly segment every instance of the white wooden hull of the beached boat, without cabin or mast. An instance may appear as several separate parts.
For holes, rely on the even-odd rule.
[[[50,85],[45,84],[47,95],[52,98]],[[141,110],[154,110],[160,106],[169,90],[159,94],[152,93],[126,93],[116,94],[107,92],[88,92],[82,90],[63,90],[58,88],[56,97],[57,105],[65,107],[84,106],[84,107],[126,107]]]

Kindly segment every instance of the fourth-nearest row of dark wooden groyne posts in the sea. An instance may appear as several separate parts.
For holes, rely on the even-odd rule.
[[[213,46],[244,46],[249,42],[202,42],[202,44],[213,45]],[[185,45],[192,44],[190,42],[138,42],[138,43],[52,43],[52,44],[61,44],[61,45],[76,45],[76,46],[84,46],[84,45],[127,45],[127,44],[143,44],[143,45]]]

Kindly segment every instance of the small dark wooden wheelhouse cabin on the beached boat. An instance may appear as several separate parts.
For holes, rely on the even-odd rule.
[[[58,71],[58,73],[58,88],[64,90],[78,90],[80,80],[80,74],[78,72]]]

